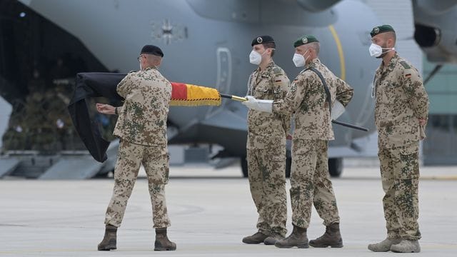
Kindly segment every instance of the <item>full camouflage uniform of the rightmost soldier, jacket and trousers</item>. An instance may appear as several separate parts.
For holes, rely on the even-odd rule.
[[[416,68],[395,54],[374,78],[375,121],[388,238],[418,240],[418,119],[428,118],[428,96]]]

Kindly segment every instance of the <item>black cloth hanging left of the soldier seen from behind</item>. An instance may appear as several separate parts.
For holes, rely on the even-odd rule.
[[[76,88],[69,104],[69,113],[81,141],[96,161],[106,160],[109,141],[101,137],[99,126],[89,115],[89,100],[92,97],[106,97],[111,101],[123,100],[117,94],[116,88],[125,76],[126,74],[95,72],[76,75]]]

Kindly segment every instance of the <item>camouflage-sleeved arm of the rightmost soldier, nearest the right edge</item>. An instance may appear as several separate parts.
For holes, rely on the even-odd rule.
[[[428,119],[428,94],[423,87],[418,71],[412,67],[405,69],[402,79],[403,90],[408,96],[408,102],[411,104],[414,114],[417,119],[425,120],[422,122],[425,124]]]

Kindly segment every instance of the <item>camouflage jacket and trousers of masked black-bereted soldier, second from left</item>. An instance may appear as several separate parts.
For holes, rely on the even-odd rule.
[[[248,95],[257,99],[283,99],[288,90],[286,73],[271,61],[265,70],[253,71]],[[247,161],[251,195],[258,212],[257,228],[263,234],[286,235],[286,133],[290,116],[248,112]]]

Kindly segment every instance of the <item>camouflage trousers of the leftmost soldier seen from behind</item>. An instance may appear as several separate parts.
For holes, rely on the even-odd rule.
[[[106,224],[121,226],[141,163],[148,178],[154,228],[170,226],[165,199],[165,185],[169,181],[166,146],[142,146],[122,139],[114,168],[113,196],[106,209]]]

